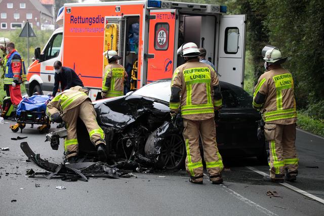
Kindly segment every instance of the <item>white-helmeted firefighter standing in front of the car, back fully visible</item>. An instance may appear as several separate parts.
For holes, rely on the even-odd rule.
[[[222,157],[216,143],[214,110],[222,106],[222,95],[214,69],[199,62],[200,52],[193,42],[182,45],[178,54],[185,63],[174,71],[171,82],[170,113],[173,121],[183,118],[186,144],[186,170],[189,181],[203,184],[203,162],[199,151],[199,135],[204,147],[206,167],[213,184],[223,182]]]

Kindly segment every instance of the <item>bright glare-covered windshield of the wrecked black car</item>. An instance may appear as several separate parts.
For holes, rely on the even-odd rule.
[[[135,91],[133,95],[156,98],[169,103],[171,96],[171,81],[149,83]]]

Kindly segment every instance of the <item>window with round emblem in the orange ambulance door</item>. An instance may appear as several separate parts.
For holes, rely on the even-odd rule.
[[[169,47],[169,24],[156,23],[154,33],[154,49],[155,50],[168,50]]]

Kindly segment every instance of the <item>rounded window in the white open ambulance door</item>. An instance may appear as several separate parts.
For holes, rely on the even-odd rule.
[[[236,27],[227,27],[225,29],[224,52],[226,54],[236,54],[238,51],[239,31]]]

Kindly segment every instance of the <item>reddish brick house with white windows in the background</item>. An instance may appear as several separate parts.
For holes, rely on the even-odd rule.
[[[54,0],[42,2],[44,5],[39,0],[0,0],[0,31],[22,28],[27,20],[33,29],[54,30]]]

